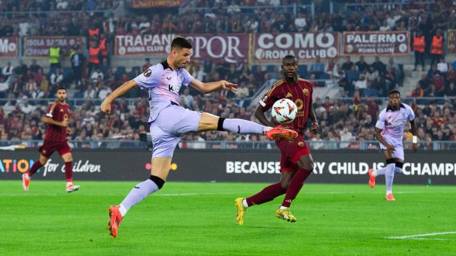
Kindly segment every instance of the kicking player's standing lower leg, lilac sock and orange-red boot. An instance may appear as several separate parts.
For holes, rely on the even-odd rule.
[[[109,207],[108,229],[113,237],[117,237],[117,229],[120,226],[122,218],[126,215],[126,212],[148,195],[151,195],[162,188],[163,184],[163,179],[151,175],[149,179],[146,179],[146,181],[142,181],[140,184],[133,187],[129,195],[125,197],[124,201],[122,201],[119,206]]]

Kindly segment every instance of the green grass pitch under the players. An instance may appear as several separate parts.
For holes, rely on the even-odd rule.
[[[234,221],[236,197],[267,184],[167,182],[108,235],[108,206],[133,181],[0,181],[0,255],[456,255],[456,187],[305,184],[292,224],[274,217],[283,197]],[[424,235],[447,233],[441,235]],[[401,237],[390,239],[388,237]],[[422,236],[420,236],[422,235]]]

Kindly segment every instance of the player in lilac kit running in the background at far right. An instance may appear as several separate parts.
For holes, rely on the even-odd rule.
[[[385,175],[386,182],[386,199],[395,201],[392,196],[392,180],[395,173],[402,173],[403,166],[403,146],[402,136],[403,127],[406,126],[407,120],[412,126],[412,147],[417,150],[417,124],[415,122],[415,113],[407,104],[401,103],[401,95],[397,90],[392,90],[389,94],[390,104],[381,110],[379,120],[375,125],[375,135],[380,142],[380,148],[383,157],[386,160],[386,167],[379,170],[369,170],[369,186],[375,186],[375,177]]]

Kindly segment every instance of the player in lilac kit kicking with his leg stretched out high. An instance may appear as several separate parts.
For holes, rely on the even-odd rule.
[[[269,139],[289,141],[298,136],[294,130],[262,126],[243,119],[225,119],[182,108],[178,104],[179,90],[182,86],[194,88],[202,93],[221,89],[232,92],[237,90],[236,84],[228,81],[202,83],[191,77],[185,70],[185,66],[190,62],[191,48],[191,43],[187,39],[176,37],[171,43],[171,51],[166,61],[151,66],[142,75],[122,84],[106,97],[101,105],[102,112],[109,114],[111,103],[117,97],[137,86],[149,90],[149,125],[153,143],[151,177],[137,184],[119,206],[109,207],[108,228],[113,237],[117,237],[117,229],[126,212],[162,188],[169,173],[174,148],[184,133],[227,130],[239,134],[267,135]]]

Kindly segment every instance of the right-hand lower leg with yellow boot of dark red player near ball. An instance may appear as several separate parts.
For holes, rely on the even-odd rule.
[[[289,184],[287,194],[285,195],[285,199],[283,199],[282,202],[282,206],[276,210],[276,217],[291,222],[297,220],[296,217],[294,217],[294,215],[292,215],[292,213],[289,211],[289,207],[292,205],[292,201],[296,198],[296,195],[298,195],[299,191],[303,187],[305,179],[307,179],[311,173],[312,172],[310,170],[303,168],[300,168],[296,172]]]

